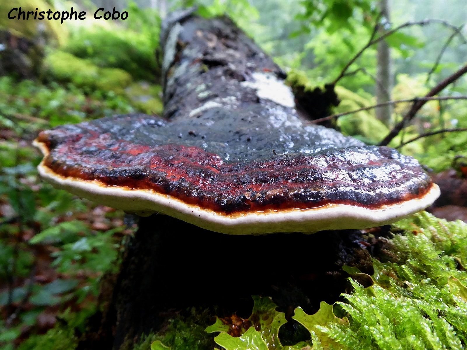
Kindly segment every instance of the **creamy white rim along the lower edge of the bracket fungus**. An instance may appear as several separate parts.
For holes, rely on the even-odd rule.
[[[33,141],[33,145],[42,151],[45,159],[49,154],[46,145],[37,140]],[[421,198],[383,205],[378,209],[328,204],[311,209],[290,209],[286,212],[268,210],[229,215],[184,203],[174,196],[164,195],[150,189],[106,186],[97,180],[82,180],[58,175],[44,165],[44,160],[37,168],[41,177],[54,187],[65,189],[96,203],[139,213],[142,216],[159,212],[206,230],[231,235],[260,235],[274,232],[314,233],[323,230],[365,229],[382,226],[425,209],[439,197],[440,193],[438,185],[433,183],[432,188]]]

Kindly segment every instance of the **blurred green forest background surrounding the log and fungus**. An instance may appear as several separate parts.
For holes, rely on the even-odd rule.
[[[161,18],[173,9],[193,5],[203,16],[225,13],[232,17],[288,72],[289,84],[314,89],[336,82],[341,102],[332,113],[342,116],[332,119],[333,126],[368,144],[380,143],[404,120],[413,98],[424,97],[466,64],[467,6],[463,0],[2,1],[1,349],[74,348],[89,317],[100,307],[99,283],[118,271],[122,251],[136,227],[120,211],[41,182],[35,169],[41,156],[31,140],[41,130],[66,123],[117,113],[160,114],[163,103],[157,56]],[[110,11],[116,7],[129,15],[125,21],[94,20],[88,15],[85,21],[64,24],[8,20],[8,11],[19,6],[33,11],[35,7],[69,11],[74,6],[88,14],[99,7]],[[392,31],[399,26],[402,28]],[[372,38],[388,32],[391,34],[384,40],[368,45]],[[347,67],[352,57],[355,60]],[[389,146],[414,156],[434,173],[451,171],[465,178],[466,79],[460,76],[440,92],[438,96],[443,98],[427,101]],[[409,101],[386,104],[394,100]],[[367,108],[380,103],[385,105]],[[347,114],[354,110],[360,111]],[[444,129],[449,132],[437,133]],[[434,134],[417,139],[426,133]],[[402,146],[407,141],[411,142]],[[461,207],[435,214],[467,221]],[[436,221],[424,217],[422,222],[427,220]],[[432,226],[439,221],[436,223]],[[437,259],[448,256],[463,266],[467,230],[460,222],[457,225],[460,238],[456,238],[455,249],[446,252],[445,246],[435,242],[421,251],[427,254],[432,249]],[[423,230],[423,226],[417,227]],[[451,239],[453,231],[449,228],[445,234]],[[459,274],[462,269],[458,266],[451,271],[452,261],[443,264],[447,267],[434,268],[439,275],[435,273],[432,279],[464,281],[454,294],[464,295],[467,301],[465,271]],[[394,290],[391,293],[397,295]],[[459,339],[452,344],[459,341],[464,346],[462,335],[467,325],[454,323],[448,320],[446,335],[439,338],[449,343],[449,329],[456,329]],[[325,339],[324,333],[313,334]],[[324,344],[325,348],[329,345]]]

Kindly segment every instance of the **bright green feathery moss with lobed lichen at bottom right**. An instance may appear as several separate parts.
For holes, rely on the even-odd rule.
[[[420,212],[393,224],[392,231],[386,253],[380,254],[384,259],[373,258],[373,276],[345,267],[351,286],[342,294],[344,301],[323,302],[314,315],[295,310],[293,318],[310,332],[312,348],[305,343],[282,347],[276,336],[276,343],[269,341],[278,334],[278,322],[268,322],[267,333],[261,325],[240,338],[229,336],[222,322],[207,330],[220,332],[215,340],[226,350],[466,349],[467,224]],[[372,285],[357,282],[362,275]],[[275,308],[264,311],[262,320],[279,314]]]

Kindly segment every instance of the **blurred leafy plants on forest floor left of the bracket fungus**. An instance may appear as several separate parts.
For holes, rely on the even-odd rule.
[[[0,130],[7,136],[0,145],[0,280],[6,283],[0,305],[7,315],[0,344],[14,342],[24,330],[34,335],[41,314],[50,310],[74,304],[78,313],[86,310],[82,315],[94,312],[100,276],[115,266],[123,231],[121,213],[39,181],[35,165],[41,156],[28,141],[44,128],[134,110],[112,91],[86,95],[73,85],[0,78]],[[46,338],[34,342],[45,342],[45,349]]]

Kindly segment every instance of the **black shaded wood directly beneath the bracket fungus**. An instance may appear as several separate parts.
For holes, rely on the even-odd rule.
[[[314,313],[345,291],[340,266],[371,273],[361,239],[359,231],[230,236],[165,215],[141,218],[94,341],[120,349],[191,307],[246,318],[253,294],[271,296],[289,317],[297,306]]]

